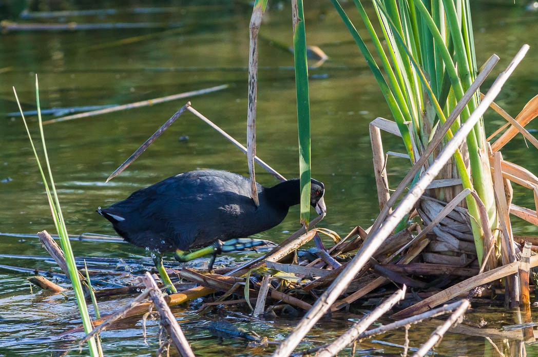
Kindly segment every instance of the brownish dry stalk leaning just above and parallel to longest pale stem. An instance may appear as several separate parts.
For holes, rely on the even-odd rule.
[[[387,204],[385,205],[384,209],[381,210],[379,213],[379,216],[376,219],[376,222],[374,222],[372,226],[372,230],[370,232],[375,232],[379,229],[381,224],[385,221],[385,218],[387,217],[389,209],[396,203],[396,201],[399,199],[400,195],[404,193],[407,186],[411,183],[413,178],[416,176],[417,173],[422,170],[422,166],[428,161],[429,156],[434,152],[434,150],[437,148],[437,146],[443,141],[443,137],[448,133],[450,130],[450,126],[456,119],[459,117],[459,114],[462,113],[463,109],[469,103],[469,100],[475,95],[475,92],[480,88],[480,85],[485,81],[486,77],[490,74],[490,72],[493,70],[493,67],[495,64],[497,64],[497,61],[499,61],[499,57],[497,55],[492,55],[489,60],[484,64],[484,68],[478,76],[475,79],[475,82],[471,84],[469,89],[465,92],[462,99],[458,102],[456,107],[454,107],[454,110],[450,113],[450,115],[447,118],[447,121],[443,123],[443,125],[438,128],[434,134],[434,137],[431,139],[430,143],[428,144],[428,147],[424,149],[422,152],[422,155],[419,157],[417,162],[413,165],[411,170],[407,173],[406,177],[400,182],[396,190],[391,195],[391,198],[388,200]]]

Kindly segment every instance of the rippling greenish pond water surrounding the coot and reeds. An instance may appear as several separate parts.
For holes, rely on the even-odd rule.
[[[110,8],[125,8],[120,2],[106,2]],[[157,3],[156,3],[157,4]],[[95,5],[95,6],[107,6]],[[161,4],[157,4],[158,6]],[[98,30],[73,32],[13,32],[0,38],[0,113],[17,110],[11,86],[15,86],[24,110],[35,110],[34,75],[39,75],[42,108],[132,103],[210,86],[230,84],[224,91],[190,98],[193,106],[237,140],[245,142],[248,26],[250,5],[239,2],[196,3],[179,12],[126,14],[101,17],[75,17],[60,20],[79,23],[154,22],[180,23],[180,28],[158,30]],[[84,5],[69,2],[75,9]],[[146,4],[146,6],[149,6]],[[353,13],[352,6],[346,9]],[[346,235],[357,224],[368,227],[377,216],[368,123],[390,113],[380,91],[356,46],[334,9],[327,2],[308,4],[307,38],[330,57],[321,68],[310,70],[312,110],[313,176],[327,187],[328,216],[320,224]],[[538,89],[536,13],[526,12],[523,4],[473,2],[478,62],[492,53],[501,60],[484,89],[506,66],[522,43],[531,50],[496,100],[515,116]],[[287,3],[275,2],[261,27],[258,88],[258,156],[287,178],[298,176],[298,150],[293,55],[272,42],[291,46],[291,16]],[[54,20],[51,20],[54,21]],[[158,35],[154,35],[158,33]],[[135,41],[122,41],[132,39]],[[345,68],[345,69],[344,69]],[[110,183],[104,180],[143,143],[186,100],[116,112],[93,118],[55,123],[45,127],[47,148],[59,190],[63,214],[70,234],[95,232],[114,234],[110,224],[94,211],[107,207],[138,188],[151,185],[173,174],[197,168],[213,168],[248,174],[246,157],[222,136],[190,113],[185,113],[160,139]],[[37,137],[36,118],[29,117],[31,132]],[[45,119],[53,119],[46,116]],[[487,133],[504,120],[489,112]],[[0,201],[3,212],[0,232],[34,233],[54,231],[49,218],[44,187],[34,163],[24,127],[17,117],[0,117]],[[536,130],[536,123],[528,129]],[[181,140],[180,140],[181,138]],[[384,136],[385,150],[403,151],[398,139]],[[538,172],[536,149],[527,149],[521,137],[502,150],[505,159]],[[397,186],[408,170],[402,159],[390,158],[389,182]],[[275,180],[257,168],[261,184]],[[514,187],[514,202],[533,206],[528,191]],[[285,231],[299,228],[299,213],[293,208],[278,227],[258,238],[278,242]],[[515,234],[536,235],[538,229],[514,219]],[[45,254],[36,238],[1,236],[0,253]],[[136,258],[149,261],[149,252],[128,244],[73,242],[77,256]],[[146,259],[146,260],[143,260]],[[48,269],[50,261],[2,258],[0,264]],[[147,263],[151,265],[151,263]],[[46,296],[31,291],[25,274],[0,271],[0,355],[79,355],[75,339],[57,337],[80,324],[72,298]],[[71,297],[71,294],[68,293]],[[101,312],[114,311],[124,301],[105,301]],[[203,318],[187,308],[176,309],[180,323],[201,323]],[[477,313],[478,314],[478,313]],[[514,324],[511,312],[479,311],[492,327]],[[499,321],[498,316],[505,320]],[[262,336],[279,340],[296,324],[293,319],[241,322]],[[342,329],[342,317],[323,320],[307,338],[327,341]],[[412,345],[419,346],[432,331],[431,326],[415,327]],[[268,354],[274,348],[249,350],[226,341],[226,348],[206,330],[186,328],[187,338],[197,355]],[[141,326],[105,332],[105,355],[153,355],[158,344],[158,326],[148,326],[145,345]],[[272,337],[272,338],[271,338]],[[404,344],[403,331],[378,340]],[[462,343],[462,339],[464,343]],[[305,347],[307,345],[305,344]],[[367,341],[360,348],[374,348],[370,355],[398,355],[399,347]],[[482,355],[491,345],[484,337],[448,334],[437,352],[445,355]],[[462,349],[466,351],[462,352]],[[527,346],[536,354],[536,348]]]

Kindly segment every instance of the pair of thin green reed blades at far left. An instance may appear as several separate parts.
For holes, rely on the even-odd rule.
[[[39,85],[38,85],[37,76],[36,76],[36,104],[37,104],[37,113],[38,113],[38,120],[39,120],[39,132],[41,136],[41,144],[43,144],[43,155],[45,157],[48,180],[43,170],[43,166],[41,165],[39,156],[37,154],[36,147],[33,144],[32,136],[30,135],[30,130],[26,123],[26,119],[24,118],[23,110],[22,110],[22,107],[20,106],[19,98],[17,97],[17,92],[15,91],[15,88],[13,88],[13,93],[15,93],[15,98],[17,99],[17,104],[19,106],[20,115],[23,118],[24,127],[26,128],[26,134],[28,135],[28,139],[30,140],[30,144],[32,146],[34,156],[36,157],[36,162],[39,169],[39,173],[41,174],[41,178],[43,179],[43,183],[45,185],[48,205],[51,209],[52,218],[54,221],[54,227],[56,228],[56,232],[60,236],[60,245],[66,257],[66,263],[69,270],[69,278],[71,279],[73,290],[75,292],[76,303],[77,303],[77,306],[79,307],[80,315],[82,317],[82,324],[84,325],[84,331],[86,333],[89,333],[93,329],[93,326],[91,325],[90,315],[88,312],[88,308],[86,306],[86,301],[84,300],[84,292],[82,290],[82,283],[79,279],[79,272],[75,265],[75,257],[73,255],[73,250],[71,249],[71,244],[69,242],[66,224],[65,224],[65,221],[63,220],[63,214],[60,207],[60,200],[58,199],[58,193],[56,192],[56,187],[54,186],[54,179],[52,177],[51,164],[48,160],[47,147],[45,144],[45,134],[43,132],[43,121],[41,120],[41,107],[39,104]],[[100,352],[98,351],[95,338],[91,338],[88,341],[88,347],[89,347],[90,355],[92,357],[100,356]]]

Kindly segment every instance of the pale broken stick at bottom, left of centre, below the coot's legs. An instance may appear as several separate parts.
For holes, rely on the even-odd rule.
[[[181,331],[181,327],[166,304],[166,301],[162,297],[161,290],[157,286],[155,280],[151,277],[150,273],[146,272],[146,274],[142,276],[142,281],[147,287],[147,290],[149,290],[151,300],[161,316],[161,324],[164,325],[168,332],[168,336],[172,340],[174,347],[178,350],[181,356],[194,357],[193,350],[190,348],[183,331]]]

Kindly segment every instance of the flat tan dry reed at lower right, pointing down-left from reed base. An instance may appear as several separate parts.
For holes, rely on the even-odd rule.
[[[530,257],[530,266],[538,266],[538,256]],[[443,290],[442,292],[432,295],[419,303],[397,312],[396,314],[392,315],[391,318],[404,318],[410,315],[420,314],[421,312],[431,308],[435,308],[437,305],[440,305],[445,301],[458,296],[459,294],[468,292],[472,288],[489,283],[490,281],[504,278],[507,275],[515,274],[518,272],[518,267],[519,262],[515,261],[514,263],[503,265],[480,275],[473,276],[472,278],[459,282],[456,285]]]

